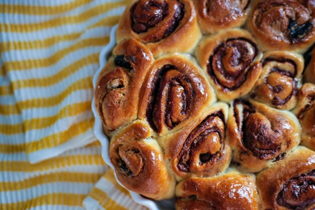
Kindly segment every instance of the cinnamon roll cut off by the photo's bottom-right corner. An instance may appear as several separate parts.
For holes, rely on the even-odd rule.
[[[257,175],[262,209],[315,209],[315,152],[298,147]]]

